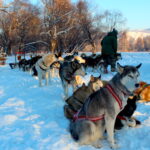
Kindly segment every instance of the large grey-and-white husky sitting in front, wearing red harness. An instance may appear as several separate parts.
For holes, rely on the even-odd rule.
[[[99,140],[106,130],[112,148],[116,116],[124,108],[128,97],[139,86],[139,67],[121,66],[117,63],[117,74],[105,87],[91,94],[70,122],[70,133],[80,145],[101,147]]]

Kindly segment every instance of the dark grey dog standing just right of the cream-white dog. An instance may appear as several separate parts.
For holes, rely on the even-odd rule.
[[[84,76],[85,72],[83,70],[82,64],[80,64],[78,61],[67,61],[60,65],[59,69],[59,76],[62,82],[62,86],[65,93],[65,98],[68,97],[68,86],[71,85],[73,88],[73,91],[76,90],[76,82],[75,82],[75,76],[81,75]]]

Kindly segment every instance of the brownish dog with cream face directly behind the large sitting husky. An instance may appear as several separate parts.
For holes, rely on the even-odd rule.
[[[67,104],[64,106],[64,114],[66,118],[73,119],[73,115],[82,107],[89,95],[100,89],[102,86],[103,83],[101,80],[101,76],[94,77],[93,75],[91,75],[90,81],[87,86],[83,84],[73,93],[72,96],[67,98]]]

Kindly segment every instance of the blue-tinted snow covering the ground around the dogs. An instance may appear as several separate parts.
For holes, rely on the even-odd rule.
[[[138,65],[141,80],[150,83],[150,54],[122,53],[121,65]],[[14,62],[8,57],[7,63]],[[89,74],[92,72],[89,72]],[[86,76],[86,80],[89,78]],[[110,79],[112,73],[102,74]],[[96,150],[79,146],[67,128],[63,114],[63,89],[55,77],[49,86],[38,87],[38,80],[8,64],[0,67],[0,150]],[[134,114],[142,125],[115,132],[120,150],[150,150],[150,103],[138,103]],[[110,150],[106,140],[101,150]]]

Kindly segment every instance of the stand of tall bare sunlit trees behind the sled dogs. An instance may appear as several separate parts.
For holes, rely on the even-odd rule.
[[[124,23],[120,12],[106,11],[91,15],[88,3],[79,0],[41,0],[38,10],[26,0],[13,0],[7,12],[0,11],[0,43],[11,53],[15,50],[45,49],[51,52],[72,52],[97,43],[113,27]]]

